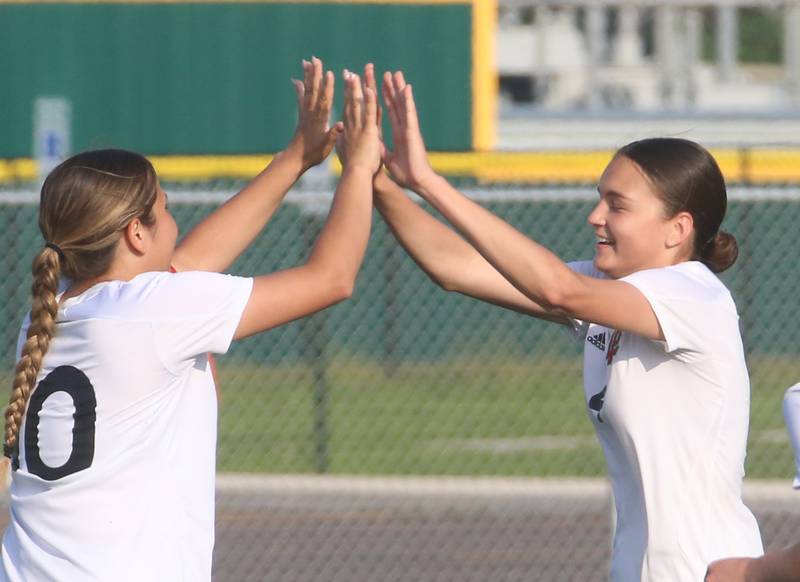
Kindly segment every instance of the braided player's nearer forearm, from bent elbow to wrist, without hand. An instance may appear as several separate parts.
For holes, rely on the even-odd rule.
[[[355,284],[372,224],[371,191],[369,169],[344,169],[328,219],[307,262],[327,273],[333,285],[352,289]]]

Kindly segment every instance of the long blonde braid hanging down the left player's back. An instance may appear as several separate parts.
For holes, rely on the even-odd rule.
[[[49,247],[42,249],[33,260],[33,285],[31,293],[31,324],[27,339],[14,373],[14,384],[6,408],[5,454],[13,455],[19,440],[22,415],[28,406],[31,390],[42,367],[42,360],[50,347],[55,333],[58,313],[58,281],[60,278],[60,259],[58,253]]]

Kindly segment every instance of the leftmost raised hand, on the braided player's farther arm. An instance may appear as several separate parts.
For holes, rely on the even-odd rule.
[[[297,128],[287,150],[301,156],[302,170],[316,166],[331,153],[342,130],[341,123],[331,127],[334,74],[323,73],[322,61],[312,57],[303,61],[303,81],[293,79],[297,93]]]

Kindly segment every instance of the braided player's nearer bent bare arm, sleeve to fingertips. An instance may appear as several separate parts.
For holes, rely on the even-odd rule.
[[[380,167],[376,97],[345,74],[343,143],[348,162],[328,220],[308,261],[256,277],[235,338],[310,315],[352,294],[372,220],[372,179]]]

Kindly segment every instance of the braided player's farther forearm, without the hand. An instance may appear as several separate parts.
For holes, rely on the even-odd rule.
[[[241,192],[195,226],[175,249],[179,271],[224,271],[253,242],[302,174],[302,155],[290,148]]]

